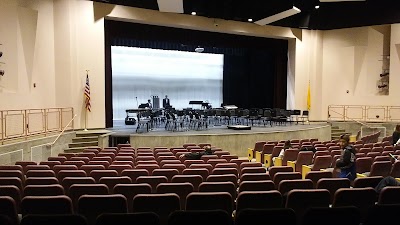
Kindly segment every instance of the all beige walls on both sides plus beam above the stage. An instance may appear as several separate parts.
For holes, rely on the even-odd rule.
[[[74,107],[84,126],[83,88],[89,70],[88,127],[105,126],[104,18],[289,41],[288,107],[326,119],[330,104],[398,105],[400,25],[332,31],[298,30],[160,13],[86,0],[0,0],[0,110]],[[390,41],[389,41],[390,40]],[[391,53],[388,96],[377,93],[382,54]],[[36,83],[36,88],[33,87]],[[349,90],[349,93],[346,91]]]

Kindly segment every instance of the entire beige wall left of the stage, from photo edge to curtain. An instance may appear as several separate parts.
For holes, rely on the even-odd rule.
[[[73,107],[84,127],[83,88],[89,70],[88,127],[104,127],[104,18],[83,0],[0,0],[0,110]]]

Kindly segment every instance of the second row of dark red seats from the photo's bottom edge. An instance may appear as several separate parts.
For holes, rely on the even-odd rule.
[[[387,187],[379,196],[378,203],[397,203],[400,187]],[[397,196],[396,196],[397,194]],[[360,201],[362,199],[362,201]],[[341,188],[336,191],[332,207],[356,206],[361,213],[361,220],[367,218],[368,211],[376,204],[376,192],[372,188]],[[36,197],[27,196],[21,201],[22,215],[28,214],[72,214],[74,212],[85,216],[90,224],[102,213],[127,213],[131,206],[132,212],[155,212],[160,217],[161,224],[167,224],[168,215],[177,210],[224,210],[228,215],[248,208],[271,209],[290,208],[297,215],[297,221],[303,217],[310,207],[329,207],[331,197],[325,189],[292,190],[285,200],[278,191],[243,192],[234,205],[232,196],[226,192],[193,192],[185,198],[185,208],[181,206],[177,194],[137,194],[129,205],[121,194],[82,195],[76,208],[72,199],[67,196]],[[212,204],[210,204],[212,202]],[[284,205],[282,204],[284,203]],[[0,197],[0,206],[7,212],[17,212],[15,202],[9,197]],[[13,207],[14,206],[14,207]],[[3,207],[1,207],[3,208]]]

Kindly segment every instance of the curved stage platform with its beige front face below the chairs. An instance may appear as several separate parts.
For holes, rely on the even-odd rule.
[[[117,126],[116,126],[117,125]],[[183,143],[211,143],[213,146],[230,151],[231,154],[247,156],[247,148],[253,148],[257,141],[318,138],[331,139],[331,126],[327,123],[295,124],[283,126],[253,126],[251,130],[232,130],[226,125],[210,127],[207,130],[166,131],[155,128],[150,132],[136,133],[136,126],[114,123],[108,129],[112,136],[129,136],[133,147],[182,146]]]

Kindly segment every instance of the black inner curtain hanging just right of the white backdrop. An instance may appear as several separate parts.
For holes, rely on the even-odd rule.
[[[286,82],[286,77],[276,81],[277,70],[274,64],[275,57],[262,50],[248,50],[243,56],[225,55],[224,104],[247,109],[284,106],[286,93],[281,97],[283,104],[274,102],[275,94],[279,92],[275,84]]]

